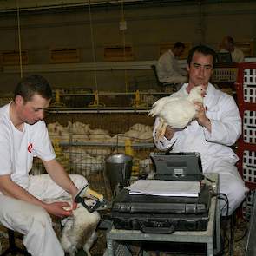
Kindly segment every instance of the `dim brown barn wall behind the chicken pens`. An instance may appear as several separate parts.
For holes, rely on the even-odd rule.
[[[218,1],[216,1],[218,2]],[[174,5],[162,3],[136,7],[125,7],[124,16],[128,24],[125,42],[134,49],[134,61],[154,61],[159,57],[159,44],[164,42],[207,43],[219,48],[221,38],[231,35],[239,42],[254,42],[256,35],[256,3],[211,3],[203,5]],[[80,49],[80,62],[94,62],[89,10],[20,14],[22,49],[28,50],[29,64],[49,64],[49,50],[56,48]],[[104,46],[123,44],[119,30],[120,8],[92,9],[93,41],[95,60],[104,62]],[[18,49],[17,19],[15,15],[0,16],[0,51]],[[253,52],[255,54],[255,50]],[[93,67],[92,67],[93,69]],[[11,91],[19,80],[16,72],[0,70],[0,90]],[[34,73],[34,72],[33,72]],[[96,72],[39,71],[53,87],[84,87],[100,90],[124,91],[125,84],[134,84],[136,76],[145,75],[154,81],[151,70],[102,70]],[[25,73],[24,75],[28,75]],[[142,89],[154,89],[156,85],[146,82]]]

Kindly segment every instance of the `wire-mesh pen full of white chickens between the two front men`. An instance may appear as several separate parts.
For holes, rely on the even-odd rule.
[[[66,121],[67,117],[69,121],[61,125],[60,122]],[[75,121],[79,117],[80,121]],[[82,117],[90,123],[82,122]],[[138,121],[148,122],[148,125]],[[133,156],[133,180],[140,174],[152,171],[153,165],[149,158],[150,152],[154,151],[152,122],[147,115],[131,114],[47,117],[49,137],[56,151],[56,159],[69,174],[82,174],[86,177],[89,186],[108,199],[111,197],[111,190],[105,174],[105,161],[109,155],[124,153]],[[42,162],[35,159],[32,174],[43,172]]]

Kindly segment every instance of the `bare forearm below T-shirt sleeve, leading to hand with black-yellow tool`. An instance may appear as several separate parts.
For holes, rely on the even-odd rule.
[[[59,185],[65,191],[71,194],[72,198],[74,199],[78,189],[77,187],[75,187],[75,184],[73,183],[73,181],[71,181],[69,175],[64,170],[62,165],[58,161],[56,161],[56,159],[50,161],[43,161],[43,165],[51,179],[55,181],[57,185]]]

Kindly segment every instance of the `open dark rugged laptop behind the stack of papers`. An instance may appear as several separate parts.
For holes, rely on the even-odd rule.
[[[203,178],[200,153],[150,153],[155,180],[201,181]]]

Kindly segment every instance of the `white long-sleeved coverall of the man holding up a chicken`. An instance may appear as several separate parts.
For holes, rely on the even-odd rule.
[[[187,84],[179,92],[187,95]],[[204,173],[218,173],[220,177],[220,193],[226,194],[229,200],[231,214],[240,206],[245,198],[246,187],[235,167],[238,156],[228,146],[232,146],[241,134],[241,118],[233,97],[213,87],[207,87],[204,98],[206,115],[211,121],[212,132],[201,127],[197,121],[192,121],[187,128],[176,131],[174,137],[168,141],[163,137],[155,146],[161,150],[173,147],[172,152],[199,152],[201,155]],[[155,128],[159,123],[156,118],[153,137],[155,141]],[[225,206],[220,201],[220,206]],[[222,212],[224,215],[226,211]]]

